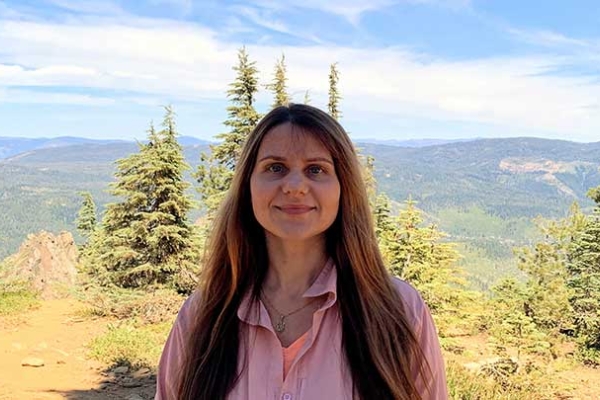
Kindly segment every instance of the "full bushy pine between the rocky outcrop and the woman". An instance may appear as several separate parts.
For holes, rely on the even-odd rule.
[[[180,285],[197,265],[197,243],[187,213],[183,174],[189,166],[177,142],[175,116],[166,108],[163,129],[151,126],[139,152],[117,161],[111,194],[121,202],[107,206],[92,272],[103,284],[144,287]],[[181,288],[181,287],[180,287]]]

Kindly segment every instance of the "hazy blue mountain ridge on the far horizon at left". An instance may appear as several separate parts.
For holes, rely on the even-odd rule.
[[[17,154],[28,152],[31,150],[68,147],[74,145],[103,145],[103,144],[118,144],[118,143],[134,143],[134,141],[126,140],[101,140],[87,139],[72,136],[60,136],[56,138],[17,138],[17,137],[0,137],[0,160],[12,157]],[[198,139],[192,136],[179,137],[179,143],[182,146],[201,146],[209,142]]]

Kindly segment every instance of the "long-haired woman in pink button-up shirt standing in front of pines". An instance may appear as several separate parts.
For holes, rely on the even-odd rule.
[[[445,399],[433,321],[388,274],[354,147],[314,107],[267,114],[215,220],[156,399]]]

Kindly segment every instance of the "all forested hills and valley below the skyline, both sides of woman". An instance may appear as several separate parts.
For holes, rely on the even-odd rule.
[[[600,185],[600,143],[515,138],[358,147],[375,157],[380,191],[396,205],[416,200],[449,240],[461,243],[463,262],[482,287],[507,270],[514,272],[507,260],[513,247],[534,237],[532,217],[562,216],[573,201],[590,211],[585,194]],[[184,147],[192,170],[207,150],[206,144]],[[114,161],[135,151],[132,142],[91,142],[0,160],[0,258],[14,252],[28,233],[75,233],[78,192],[90,191],[102,209],[114,200],[106,193]],[[188,179],[193,182],[189,174]],[[193,188],[190,194],[196,196]]]

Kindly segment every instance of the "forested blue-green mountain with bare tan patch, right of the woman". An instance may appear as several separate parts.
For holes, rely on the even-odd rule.
[[[476,206],[501,217],[559,216],[600,185],[600,142],[480,139],[422,148],[365,144],[381,191],[425,210]]]

